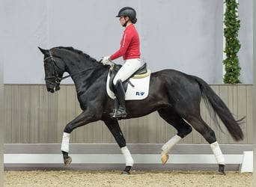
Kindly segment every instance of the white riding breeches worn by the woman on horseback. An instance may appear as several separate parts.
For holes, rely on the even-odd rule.
[[[142,65],[141,59],[139,58],[124,61],[124,65],[118,71],[115,79],[113,80],[114,85],[117,84],[118,79],[121,79],[122,82],[127,80],[129,76],[132,76],[132,74],[135,73],[135,71],[138,70]]]

